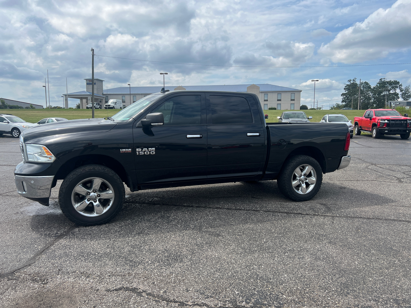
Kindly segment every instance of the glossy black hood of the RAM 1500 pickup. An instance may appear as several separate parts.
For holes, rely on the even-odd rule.
[[[101,119],[80,119],[38,125],[23,131],[25,143],[39,138],[49,138],[68,134],[104,133],[113,129],[117,122]]]

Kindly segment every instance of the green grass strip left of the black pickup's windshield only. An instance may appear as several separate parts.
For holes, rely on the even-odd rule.
[[[107,117],[120,109],[95,109],[94,117]],[[64,117],[67,120],[91,118],[91,109],[0,109],[0,113],[15,115],[26,122],[37,123],[45,117]]]

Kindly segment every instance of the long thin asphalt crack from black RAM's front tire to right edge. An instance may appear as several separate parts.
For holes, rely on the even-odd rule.
[[[131,202],[127,202],[131,203]],[[377,220],[377,221],[395,221],[402,223],[411,223],[409,220],[405,219],[394,219],[394,218],[379,218],[379,217],[364,217],[364,216],[339,216],[339,215],[330,215],[330,214],[312,214],[312,213],[300,213],[300,212],[289,212],[289,211],[272,211],[268,209],[233,209],[231,207],[210,207],[205,205],[179,205],[179,204],[163,204],[163,203],[147,203],[147,202],[138,202],[139,204],[145,205],[159,205],[166,207],[192,207],[192,208],[201,208],[201,209],[226,209],[230,211],[250,211],[250,212],[263,212],[263,213],[273,213],[273,214],[288,214],[288,215],[300,215],[300,216],[318,216],[318,217],[330,217],[330,218],[351,218],[351,219],[368,219],[368,220]]]

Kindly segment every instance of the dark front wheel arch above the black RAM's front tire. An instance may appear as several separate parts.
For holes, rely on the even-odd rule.
[[[72,159],[69,159],[65,163],[63,163],[58,171],[56,172],[56,175],[54,177],[53,181],[53,187],[55,186],[55,182],[58,179],[65,179],[67,175],[72,172],[74,169],[79,168],[84,165],[103,165],[106,166],[107,168],[110,168],[113,170],[115,173],[118,174],[120,179],[127,184],[127,186],[131,185],[132,183],[129,183],[129,177],[127,176],[127,172],[123,165],[114,159],[111,156],[107,155],[101,155],[101,154],[93,154],[93,155],[81,155],[81,156],[76,156]]]

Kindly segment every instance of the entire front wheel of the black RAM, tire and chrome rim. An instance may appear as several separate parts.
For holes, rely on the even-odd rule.
[[[102,165],[85,165],[70,172],[58,195],[63,214],[83,226],[109,222],[121,210],[124,199],[122,180]]]

